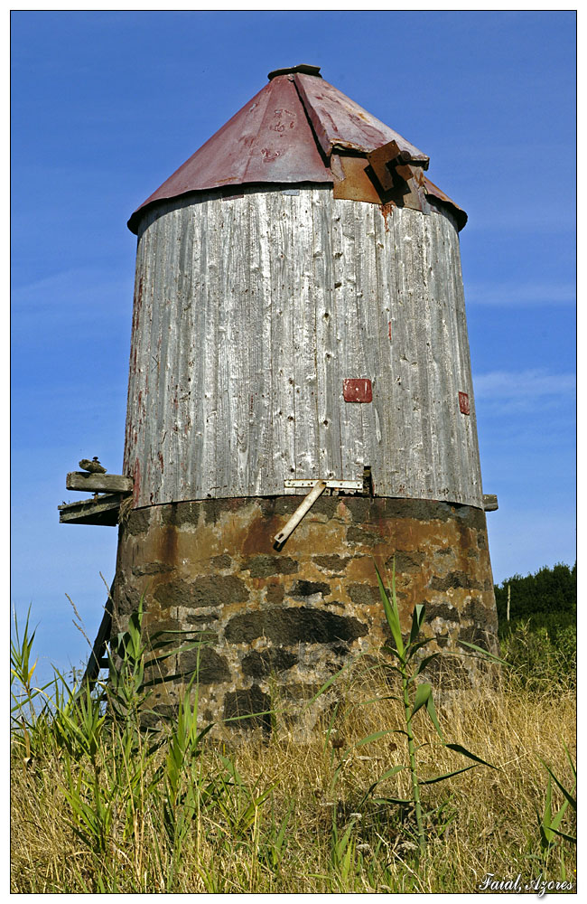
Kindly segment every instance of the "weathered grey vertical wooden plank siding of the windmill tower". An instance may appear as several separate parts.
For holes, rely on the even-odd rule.
[[[369,465],[377,495],[482,507],[450,215],[335,201],[331,186],[242,191],[145,213],[135,504],[284,494],[287,478],[357,479]],[[343,400],[349,377],[372,381],[371,403]]]

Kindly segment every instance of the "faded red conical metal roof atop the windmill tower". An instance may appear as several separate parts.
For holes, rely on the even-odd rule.
[[[132,214],[132,232],[138,232],[147,207],[183,194],[244,184],[333,183],[332,155],[365,156],[390,141],[427,168],[427,155],[323,80],[318,66],[302,63],[268,78],[265,88]]]

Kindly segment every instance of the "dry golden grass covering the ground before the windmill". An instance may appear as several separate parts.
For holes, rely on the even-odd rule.
[[[99,851],[72,828],[80,823],[65,793],[70,779],[62,751],[48,737],[25,767],[15,748],[12,891],[465,893],[489,872],[504,880],[519,872],[523,881],[540,874],[574,881],[573,844],[541,851],[536,816],[548,781],[540,758],[573,788],[564,750],[566,744],[575,759],[572,690],[530,693],[510,683],[437,695],[446,740],[498,768],[475,767],[423,787],[427,852],[418,862],[412,816],[377,799],[409,796],[409,773],[365,798],[377,777],[406,762],[404,736],[357,746],[377,731],[401,729],[399,704],[366,702],[390,692],[372,675],[367,681],[355,673],[344,684],[332,730],[323,725],[306,745],[272,739],[227,752],[204,742],[191,780],[201,791],[216,778],[216,790],[213,799],[200,793],[175,848],[163,829],[171,818],[164,783],[154,783],[164,749],[142,772],[133,762],[121,767],[119,757],[115,770],[103,739],[98,775],[112,812]],[[418,751],[423,779],[468,765],[443,748],[424,711],[415,716],[415,735],[426,745]],[[554,789],[553,797],[555,811],[563,796]],[[179,810],[173,813],[179,818]],[[570,808],[561,827],[573,833]]]

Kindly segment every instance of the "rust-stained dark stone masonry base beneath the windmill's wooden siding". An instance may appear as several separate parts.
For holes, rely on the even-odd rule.
[[[300,496],[203,500],[131,512],[120,528],[113,634],[144,598],[144,636],[180,649],[152,672],[152,707],[172,716],[194,673],[202,721],[302,738],[329,705],[321,685],[389,633],[374,562],[396,593],[402,627],[425,603],[426,652],[469,641],[496,649],[485,513],[425,500],[322,496],[284,547],[273,538]],[[185,632],[180,635],[165,632]],[[178,639],[179,638],[179,639]],[[201,640],[199,648],[193,641]],[[191,648],[189,648],[191,645]],[[439,661],[436,660],[436,663]],[[471,683],[471,659],[448,657]],[[251,716],[251,713],[256,715]],[[239,716],[245,720],[235,720]],[[156,721],[156,716],[152,717]],[[229,720],[229,721],[227,721]],[[218,732],[217,732],[218,733]]]

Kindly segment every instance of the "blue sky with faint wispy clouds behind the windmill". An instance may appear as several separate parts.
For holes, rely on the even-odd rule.
[[[12,14],[12,595],[77,665],[116,529],[60,525],[80,457],[122,468],[135,208],[308,62],[431,157],[461,259],[494,579],[575,560],[573,12]]]

